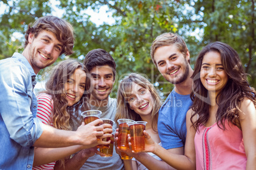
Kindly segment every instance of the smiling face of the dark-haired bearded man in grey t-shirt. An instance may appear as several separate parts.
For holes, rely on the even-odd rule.
[[[90,70],[90,75],[92,75],[92,86],[94,86],[90,97],[90,101],[94,102],[91,103],[108,100],[108,96],[110,95],[115,82],[111,67],[108,65],[96,66]]]

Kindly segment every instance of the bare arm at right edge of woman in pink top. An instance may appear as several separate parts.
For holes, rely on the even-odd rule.
[[[241,103],[239,121],[243,133],[245,153],[247,157],[246,169],[256,167],[256,110],[253,102],[245,98]]]

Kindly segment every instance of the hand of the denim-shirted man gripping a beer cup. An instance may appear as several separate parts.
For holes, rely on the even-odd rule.
[[[97,119],[96,121],[92,121],[89,124],[85,125],[84,122],[82,122],[82,125],[79,126],[79,128],[76,130],[76,134],[78,136],[78,143],[80,145],[85,146],[85,148],[91,148],[95,147],[96,145],[99,145],[98,139],[103,137],[103,129],[104,126],[97,126],[98,124],[101,124],[103,121],[101,119]],[[107,144],[106,144],[107,145]]]

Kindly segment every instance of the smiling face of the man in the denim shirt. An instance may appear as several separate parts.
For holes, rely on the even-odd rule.
[[[34,34],[29,34],[28,41],[29,44],[26,46],[28,53],[24,56],[36,74],[39,70],[52,65],[62,51],[62,43],[52,32],[47,30],[41,30],[37,37]]]

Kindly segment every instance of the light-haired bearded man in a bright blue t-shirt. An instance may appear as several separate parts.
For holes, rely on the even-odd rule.
[[[150,55],[162,76],[174,84],[173,91],[159,110],[157,127],[162,147],[168,152],[183,155],[187,134],[186,114],[192,105],[190,54],[180,36],[164,33],[152,42]]]

